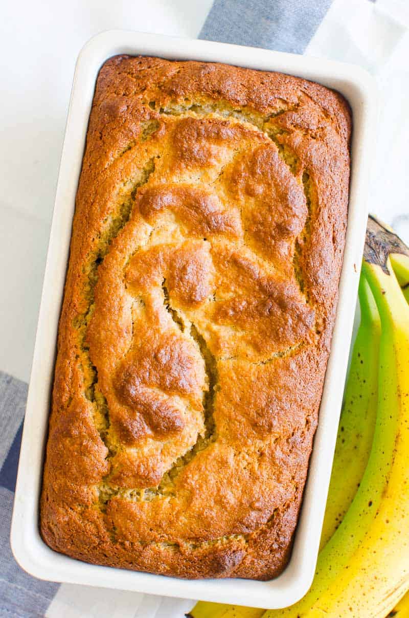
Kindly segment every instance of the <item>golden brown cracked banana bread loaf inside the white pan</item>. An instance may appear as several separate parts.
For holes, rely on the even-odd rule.
[[[350,112],[300,78],[99,72],[41,533],[86,562],[268,579],[290,555],[347,221]]]

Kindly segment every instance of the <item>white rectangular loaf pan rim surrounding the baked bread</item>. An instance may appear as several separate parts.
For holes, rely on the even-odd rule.
[[[238,579],[189,581],[91,565],[52,551],[40,537],[38,506],[57,326],[88,116],[99,68],[109,57],[122,53],[226,62],[251,69],[299,75],[339,90],[352,107],[352,177],[347,242],[318,430],[292,557],[284,572],[269,582]],[[371,77],[365,70],[353,65],[266,49],[120,30],[101,33],[86,43],[78,56],[65,130],[15,490],[11,544],[15,559],[28,573],[54,582],[266,608],[288,606],[306,593],[316,565],[347,370],[368,214],[366,195],[369,159],[374,147],[375,101]]]

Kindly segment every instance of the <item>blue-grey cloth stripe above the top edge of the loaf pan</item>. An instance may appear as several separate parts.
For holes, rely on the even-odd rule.
[[[215,0],[199,38],[302,54],[332,0]]]

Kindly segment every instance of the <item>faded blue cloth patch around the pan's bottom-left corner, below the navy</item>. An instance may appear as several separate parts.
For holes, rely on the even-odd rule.
[[[13,498],[0,487],[0,616],[44,616],[59,584],[31,577],[15,562],[9,541]]]

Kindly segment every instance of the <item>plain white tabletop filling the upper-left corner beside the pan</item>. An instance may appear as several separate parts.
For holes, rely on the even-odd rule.
[[[74,66],[102,30],[196,38],[213,0],[22,0],[0,18],[0,370],[28,381]]]

